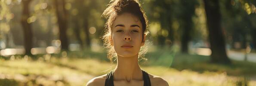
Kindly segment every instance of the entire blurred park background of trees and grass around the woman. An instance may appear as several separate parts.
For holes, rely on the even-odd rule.
[[[115,68],[110,0],[0,0],[0,86],[85,86]],[[140,0],[142,69],[170,86],[256,86],[256,0]]]

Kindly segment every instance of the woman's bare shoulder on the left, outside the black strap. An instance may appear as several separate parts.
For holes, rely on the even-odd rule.
[[[95,77],[86,84],[86,86],[105,86],[105,79],[107,74]]]

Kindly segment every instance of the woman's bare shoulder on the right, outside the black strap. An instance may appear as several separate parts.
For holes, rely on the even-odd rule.
[[[169,86],[166,80],[164,80],[162,77],[153,75],[153,74],[148,74],[150,81],[151,81],[151,86]]]

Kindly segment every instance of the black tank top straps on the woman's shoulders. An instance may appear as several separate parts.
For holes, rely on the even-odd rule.
[[[114,86],[114,71],[110,71],[107,74],[106,80],[105,80],[105,86]],[[144,86],[151,86],[150,78],[148,76],[148,73],[146,71],[142,70],[143,80],[144,80]]]

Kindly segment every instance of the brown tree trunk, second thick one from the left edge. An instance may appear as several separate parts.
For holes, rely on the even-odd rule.
[[[68,50],[68,37],[67,37],[67,25],[68,25],[68,13],[65,9],[65,0],[55,0],[56,15],[59,23],[59,37],[63,50]]]

